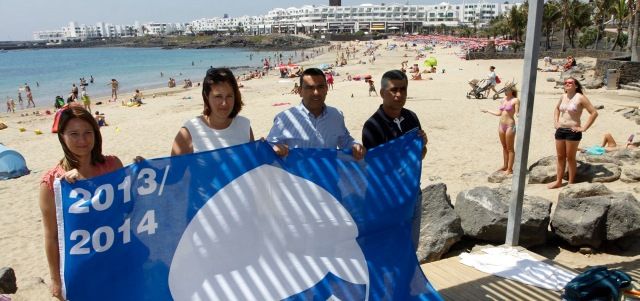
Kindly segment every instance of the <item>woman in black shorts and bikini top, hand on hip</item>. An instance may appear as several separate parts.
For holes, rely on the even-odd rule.
[[[581,125],[580,116],[583,110],[589,112],[589,119]],[[582,85],[575,78],[564,80],[564,94],[553,112],[556,128],[556,181],[547,187],[550,189],[562,186],[565,165],[569,169],[569,184],[576,179],[576,152],[582,139],[582,132],[586,132],[598,117],[598,112],[589,99],[582,94]]]

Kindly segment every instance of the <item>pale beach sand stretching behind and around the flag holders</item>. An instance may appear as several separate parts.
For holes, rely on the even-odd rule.
[[[384,50],[387,41],[377,52],[375,64],[355,64],[362,57],[364,44],[358,46],[358,59],[349,60],[349,65],[336,68],[340,76],[335,77],[335,87],[329,91],[327,104],[342,110],[346,124],[357,140],[360,140],[362,125],[375,112],[381,98],[368,96],[368,85],[364,81],[346,81],[346,74],[370,74],[376,89],[380,88],[382,74],[390,69],[399,69],[400,62],[409,60],[409,66],[421,61],[414,60],[415,51],[403,47],[393,51]],[[403,55],[408,53],[408,58]],[[474,60],[465,61],[454,54],[452,48],[438,46],[433,56],[438,59],[438,69],[446,73],[424,74],[432,80],[410,81],[406,107],[416,112],[429,137],[428,154],[423,161],[421,186],[443,182],[455,202],[457,194],[476,186],[497,187],[488,183],[487,175],[502,164],[501,147],[497,135],[498,117],[483,114],[481,109],[497,110],[499,101],[476,100],[465,97],[471,78],[483,78],[490,65],[503,82],[522,79],[523,60]],[[335,52],[325,53],[312,61],[303,62],[305,67],[335,62]],[[595,59],[578,58],[580,63],[595,64]],[[542,65],[540,61],[539,65]],[[204,75],[206,70],[202,70]],[[263,79],[243,82],[242,98],[245,103],[241,115],[251,120],[256,138],[265,137],[271,128],[276,113],[300,102],[300,97],[289,94],[294,80],[280,79],[272,71]],[[538,73],[533,125],[529,150],[529,165],[538,159],[554,155],[553,107],[561,90],[554,89],[548,77],[558,73]],[[194,82],[195,84],[195,82]],[[518,85],[520,87],[520,85]],[[168,156],[173,139],[182,124],[202,111],[201,88],[160,89],[145,92],[145,105],[137,108],[122,107],[119,103],[106,103],[106,99],[93,100],[92,110],[106,115],[108,127],[102,128],[103,151],[117,155],[128,164],[135,156],[156,158]],[[153,94],[157,97],[152,98]],[[164,95],[168,93],[168,95]],[[132,93],[121,93],[128,99]],[[599,144],[602,135],[610,132],[624,141],[638,126],[622,117],[617,109],[638,106],[640,93],[630,91],[588,90],[586,95],[594,105],[604,105],[595,124],[584,134],[581,146]],[[103,105],[95,105],[101,100]],[[289,105],[274,106],[278,103]],[[42,109],[40,109],[42,112]],[[27,112],[26,110],[23,112]],[[0,114],[0,121],[9,128],[0,131],[0,142],[20,152],[26,159],[31,174],[18,179],[0,182],[0,267],[9,266],[16,271],[18,294],[14,300],[48,300],[49,282],[47,261],[43,249],[41,215],[38,207],[38,186],[44,172],[53,167],[62,157],[57,136],[50,133],[52,116],[27,116]],[[586,117],[583,116],[583,121]],[[26,128],[20,132],[18,128]],[[34,130],[44,134],[36,135]],[[462,177],[463,174],[472,176]],[[473,176],[480,174],[484,176]],[[510,183],[510,181],[509,181]],[[621,181],[607,183],[617,192],[632,192],[637,184]],[[545,184],[527,185],[526,194],[544,197],[556,202],[559,189],[548,190]],[[635,194],[638,198],[638,194]],[[635,248],[617,254],[598,253],[582,255],[558,246],[536,249],[543,255],[574,268],[587,265],[615,263],[640,258]]]

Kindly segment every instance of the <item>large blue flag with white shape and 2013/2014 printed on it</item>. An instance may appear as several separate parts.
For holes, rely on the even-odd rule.
[[[56,181],[68,300],[441,300],[411,242],[422,140],[266,142]]]

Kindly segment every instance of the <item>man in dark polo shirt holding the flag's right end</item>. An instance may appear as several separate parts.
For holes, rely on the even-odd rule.
[[[418,115],[404,108],[407,102],[408,85],[407,75],[400,70],[390,70],[382,75],[380,81],[382,104],[362,127],[362,143],[367,150],[417,129],[418,136],[423,140],[422,159],[427,155],[429,139],[420,125]],[[411,228],[411,238],[415,248],[418,247],[420,237],[421,210],[422,194],[418,193]]]

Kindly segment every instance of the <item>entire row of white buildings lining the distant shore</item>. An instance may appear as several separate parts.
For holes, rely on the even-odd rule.
[[[134,25],[77,25],[70,22],[61,30],[34,32],[34,40],[60,42],[118,38],[142,35],[177,35],[243,31],[250,34],[268,33],[340,33],[419,32],[430,26],[478,26],[507,13],[521,3],[463,2],[436,5],[361,4],[352,6],[305,5],[299,8],[276,8],[262,16],[198,19],[190,23],[150,22]]]

